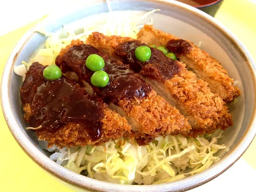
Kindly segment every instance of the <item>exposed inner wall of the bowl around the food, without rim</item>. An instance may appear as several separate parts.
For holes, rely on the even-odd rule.
[[[131,18],[139,18],[142,16],[145,12],[143,11],[137,11],[137,10],[127,10],[127,11],[114,11],[112,14],[114,17],[120,16],[120,15],[126,15],[130,16]],[[105,13],[100,13],[100,14],[94,14],[91,16],[88,16],[86,18],[81,18],[79,20],[76,20],[74,22],[70,23],[62,23],[65,24],[65,29],[60,26],[59,29],[57,30],[52,30],[51,27],[49,27],[48,19],[44,20],[43,22],[43,27],[46,28],[47,31],[57,33],[60,38],[64,38],[67,36],[66,30],[73,30],[76,34],[79,34],[83,31],[83,27],[86,25],[90,26],[93,24],[102,24],[107,21],[107,16],[108,12]],[[242,85],[242,80],[240,78],[238,69],[235,66],[235,62],[232,61],[232,56],[228,55],[227,52],[225,52],[224,48],[220,44],[218,44],[214,38],[210,36],[210,34],[204,33],[202,30],[196,28],[193,26],[191,23],[186,23],[180,18],[174,18],[172,16],[164,15],[162,12],[156,12],[152,15],[150,15],[148,18],[145,18],[144,20],[140,21],[139,24],[144,24],[146,22],[149,22],[150,17],[153,18],[153,24],[156,28],[163,30],[165,32],[169,32],[171,34],[175,34],[176,36],[179,36],[180,38],[183,39],[188,39],[196,45],[200,45],[200,48],[202,50],[205,50],[208,54],[219,60],[224,68],[228,70],[230,77],[234,78],[234,80],[237,82],[237,86],[240,88],[242,94],[241,96],[237,99],[236,105],[234,106],[233,104],[230,104],[230,111],[234,115],[234,126],[228,128],[224,132],[224,138],[220,141],[221,143],[225,143],[228,148],[232,148],[232,144],[234,144],[234,140],[237,138],[238,133],[240,131],[241,125],[242,125],[242,120],[244,118],[244,88]],[[186,30],[184,30],[186,29]],[[45,48],[44,42],[46,38],[40,34],[40,33],[34,33],[33,36],[31,37],[30,41],[25,44],[23,47],[22,52],[28,52],[30,51],[30,54],[24,55],[22,52],[20,54],[21,57],[18,56],[16,60],[16,64],[20,64],[21,61],[29,62],[30,58],[36,53],[36,50],[38,50],[38,47],[40,48]],[[35,43],[35,41],[37,43]],[[39,43],[38,43],[39,41]],[[34,48],[32,48],[32,45]],[[226,46],[224,46],[226,48]],[[22,58],[23,55],[23,58]],[[25,56],[25,58],[24,58]],[[15,75],[16,76],[16,75]],[[19,78],[19,77],[18,77]],[[22,81],[18,80],[18,83],[21,86]],[[18,86],[17,88],[20,88]],[[17,90],[18,92],[18,90]],[[22,127],[25,128],[26,122],[22,118],[22,107],[21,107],[21,101],[19,99],[19,95],[17,98],[19,100],[19,120],[22,122]],[[37,139],[34,137],[33,132],[27,131],[29,134],[29,138],[33,141],[34,144],[37,144]],[[40,148],[40,147],[39,147]],[[42,150],[45,154],[49,156],[49,153],[45,150]],[[227,150],[221,150],[222,152],[220,156],[223,156]]]

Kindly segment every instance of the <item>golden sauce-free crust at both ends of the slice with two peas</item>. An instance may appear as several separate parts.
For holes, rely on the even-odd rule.
[[[56,64],[62,63],[62,56],[72,46],[80,44],[83,44],[83,42],[72,40],[70,45],[61,50],[56,58]],[[155,138],[159,135],[166,136],[166,134],[188,134],[191,129],[188,120],[164,98],[158,96],[154,90],[151,90],[147,98],[138,99],[134,97],[120,100],[118,107],[126,112],[125,116],[127,118],[132,117],[139,124],[139,133],[128,135],[130,138],[134,135],[146,139],[146,137]]]

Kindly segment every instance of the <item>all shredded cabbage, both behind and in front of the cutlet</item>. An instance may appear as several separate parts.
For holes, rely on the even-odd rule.
[[[94,31],[106,35],[130,36],[136,38],[138,21],[158,11],[152,10],[142,15],[138,20],[130,18],[113,18],[110,2],[107,0],[110,14],[108,22],[86,26],[81,34],[75,34],[63,25],[68,36],[58,38],[58,34],[46,32],[38,28],[38,32],[48,36],[45,48],[40,49],[28,63],[16,66],[14,72],[25,77],[32,62],[43,65],[54,65],[55,59],[61,48],[70,44],[73,39],[85,41]],[[152,24],[150,18],[149,24]],[[215,156],[220,149],[225,149],[224,144],[218,144],[222,131],[213,134],[185,138],[183,136],[158,137],[147,146],[138,146],[132,142],[110,141],[102,146],[85,146],[83,148],[62,148],[56,146],[46,148],[46,142],[39,141],[42,148],[53,154],[50,159],[65,168],[90,178],[119,184],[160,184],[182,179],[186,176],[201,172],[219,160]],[[119,143],[124,143],[119,146]]]

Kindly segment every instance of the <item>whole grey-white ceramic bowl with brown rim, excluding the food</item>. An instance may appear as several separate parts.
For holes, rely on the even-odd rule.
[[[211,16],[186,4],[170,0],[112,0],[114,14],[140,15],[156,8],[161,11],[152,14],[154,26],[165,32],[170,32],[180,38],[188,39],[198,44],[211,56],[218,59],[229,75],[236,80],[241,89],[241,96],[235,106],[230,109],[234,114],[234,126],[224,132],[220,140],[230,150],[222,150],[218,155],[220,161],[207,170],[167,184],[151,186],[127,186],[94,180],[59,166],[48,158],[48,152],[42,150],[31,132],[25,130],[26,123],[19,98],[22,78],[14,74],[14,66],[22,61],[28,62],[36,50],[41,47],[46,37],[33,29],[28,31],[14,48],[2,76],[1,102],[6,122],[18,144],[24,152],[37,164],[60,180],[79,190],[88,191],[118,191],[118,192],[166,192],[183,191],[194,188],[212,180],[228,169],[248,148],[252,142],[256,128],[256,78],[255,64],[244,46],[224,26]],[[68,8],[56,10],[46,17],[42,23],[46,31],[59,33],[62,24],[77,28],[88,23],[102,22],[108,12],[104,0],[84,1]],[[144,21],[145,22],[145,21]]]

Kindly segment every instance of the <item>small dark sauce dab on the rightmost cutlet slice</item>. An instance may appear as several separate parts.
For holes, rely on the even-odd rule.
[[[170,51],[175,53],[176,55],[182,55],[190,53],[192,46],[189,42],[183,39],[172,39],[167,42],[166,48]]]

